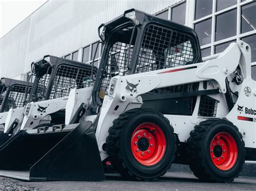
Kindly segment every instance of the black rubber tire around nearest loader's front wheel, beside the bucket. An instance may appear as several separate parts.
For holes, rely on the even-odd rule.
[[[166,141],[163,157],[156,164],[147,166],[140,163],[131,150],[131,139],[134,130],[144,123],[157,125],[163,132]],[[106,139],[106,145],[106,152],[109,154],[115,171],[126,179],[150,181],[158,179],[170,168],[176,152],[176,137],[169,120],[163,114],[152,109],[136,108],[126,111],[113,121],[113,126],[109,129],[109,136]],[[148,146],[150,148],[151,145]],[[153,153],[152,151],[152,155]]]

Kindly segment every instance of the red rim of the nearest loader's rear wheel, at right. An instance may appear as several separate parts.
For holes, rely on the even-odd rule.
[[[235,143],[234,138],[230,134],[220,132],[212,139],[210,154],[213,164],[217,168],[227,171],[231,169],[237,161],[237,143]]]

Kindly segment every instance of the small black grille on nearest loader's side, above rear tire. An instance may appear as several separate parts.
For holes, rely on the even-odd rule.
[[[201,117],[215,117],[218,107],[218,100],[209,96],[201,96],[198,116]]]

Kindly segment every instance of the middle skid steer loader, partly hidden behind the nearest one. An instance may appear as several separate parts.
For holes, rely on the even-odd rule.
[[[64,123],[65,104],[70,90],[76,88],[78,94],[79,89],[92,86],[88,83],[88,77],[92,73],[95,75],[97,68],[92,69],[92,66],[81,62],[46,55],[43,59],[32,62],[31,70],[35,83],[27,103],[23,104],[24,107],[10,109],[5,113],[6,117],[2,118],[4,134],[0,136],[1,145],[20,129]],[[27,86],[28,82],[24,83]],[[79,107],[83,108],[81,105]]]

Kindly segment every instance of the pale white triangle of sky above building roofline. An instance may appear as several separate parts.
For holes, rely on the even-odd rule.
[[[0,0],[0,38],[47,0]]]

